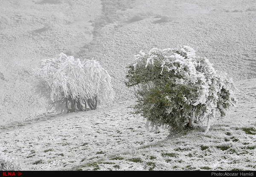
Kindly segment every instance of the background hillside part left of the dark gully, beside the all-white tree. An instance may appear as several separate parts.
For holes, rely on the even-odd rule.
[[[32,93],[32,69],[43,58],[92,40],[88,22],[101,14],[100,1],[13,0],[0,6],[1,124],[46,113],[44,100]]]

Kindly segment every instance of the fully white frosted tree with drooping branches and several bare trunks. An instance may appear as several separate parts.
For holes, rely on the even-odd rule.
[[[113,100],[111,77],[96,60],[80,61],[64,53],[44,59],[34,70],[35,93],[46,98],[48,109],[60,113],[96,109]]]

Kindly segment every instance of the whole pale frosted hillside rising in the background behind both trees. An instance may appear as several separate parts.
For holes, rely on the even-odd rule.
[[[256,75],[255,1],[14,0],[1,3],[0,117],[45,113],[31,70],[60,52],[99,60],[113,76],[116,102],[133,98],[122,80],[140,50],[192,46],[234,80]]]

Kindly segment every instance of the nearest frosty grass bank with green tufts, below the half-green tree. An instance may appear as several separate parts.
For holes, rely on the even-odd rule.
[[[226,132],[231,135],[225,135]],[[233,135],[239,140],[232,141]],[[253,170],[256,168],[255,147],[255,137],[239,128],[218,124],[208,135],[195,129],[128,154],[88,161],[73,170]]]

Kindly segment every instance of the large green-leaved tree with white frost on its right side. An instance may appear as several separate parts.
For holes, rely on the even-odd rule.
[[[232,79],[195,56],[189,46],[140,51],[128,66],[128,87],[137,86],[137,113],[156,127],[206,126],[235,105]]]

